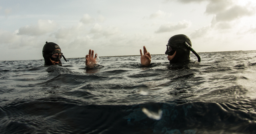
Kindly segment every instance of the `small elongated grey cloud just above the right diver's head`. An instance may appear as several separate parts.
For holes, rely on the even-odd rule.
[[[177,31],[177,30],[182,30],[185,28],[190,27],[191,22],[183,20],[182,22],[178,22],[177,25],[173,25],[173,24],[165,24],[165,25],[161,25],[160,28],[158,30],[156,30],[155,33],[163,33],[163,32],[172,32],[172,31]]]

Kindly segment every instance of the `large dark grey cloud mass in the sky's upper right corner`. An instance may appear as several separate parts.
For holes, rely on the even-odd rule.
[[[191,33],[192,38],[205,37],[210,30],[232,29],[234,21],[239,22],[243,17],[254,16],[256,11],[255,4],[249,1],[246,5],[238,5],[236,0],[179,0],[183,3],[208,2],[205,14],[213,15],[211,27],[204,26]],[[244,1],[246,2],[246,1]]]

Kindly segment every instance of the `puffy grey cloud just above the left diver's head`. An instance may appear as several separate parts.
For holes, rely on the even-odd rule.
[[[44,35],[55,31],[57,24],[52,20],[38,20],[37,25],[21,27],[17,35]]]

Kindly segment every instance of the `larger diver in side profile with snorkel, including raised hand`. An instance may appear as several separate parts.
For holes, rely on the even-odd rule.
[[[172,36],[166,45],[167,50],[165,52],[165,54],[168,55],[167,57],[170,61],[170,64],[189,61],[190,51],[192,51],[192,53],[196,55],[196,57],[198,58],[198,62],[200,62],[200,56],[198,55],[198,53],[196,53],[196,51],[194,51],[194,49],[192,49],[191,46],[192,43],[188,36],[184,34]],[[143,46],[143,52],[144,55],[142,55],[142,50],[140,49],[140,63],[142,66],[149,66],[151,63],[151,55],[147,51],[145,46]]]

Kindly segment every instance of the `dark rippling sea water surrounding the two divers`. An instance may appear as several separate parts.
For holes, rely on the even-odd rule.
[[[0,61],[0,134],[256,134],[256,51]]]

